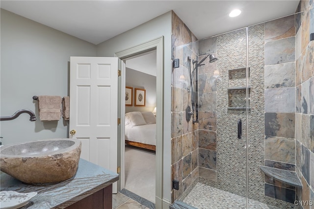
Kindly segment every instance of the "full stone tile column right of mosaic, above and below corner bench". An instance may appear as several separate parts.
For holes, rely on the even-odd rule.
[[[264,164],[295,171],[295,15],[265,23],[264,40]],[[266,175],[264,190],[268,197],[296,200],[294,186]]]

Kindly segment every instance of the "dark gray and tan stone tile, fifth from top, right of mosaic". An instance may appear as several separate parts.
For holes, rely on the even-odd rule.
[[[294,113],[265,113],[265,135],[294,138]]]

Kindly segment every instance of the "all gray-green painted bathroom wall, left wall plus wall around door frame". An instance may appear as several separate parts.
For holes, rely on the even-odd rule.
[[[141,24],[97,46],[1,9],[1,116],[30,109],[38,116],[33,95],[68,95],[70,56],[114,56],[114,53],[164,37],[163,162],[171,159],[171,12]],[[66,138],[67,122],[30,122],[23,114],[1,121],[3,144]],[[170,164],[164,163],[163,198],[170,200]]]

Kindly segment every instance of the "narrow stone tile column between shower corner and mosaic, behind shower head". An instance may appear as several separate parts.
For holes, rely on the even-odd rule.
[[[208,54],[217,57],[217,38],[212,37],[198,42],[199,57]],[[198,68],[199,130],[198,130],[198,172],[199,177],[216,181],[216,144],[217,144],[217,62],[204,62]]]

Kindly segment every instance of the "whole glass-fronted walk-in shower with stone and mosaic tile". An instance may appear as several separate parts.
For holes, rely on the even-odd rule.
[[[298,10],[175,48],[183,66],[173,72],[172,118],[182,124],[172,139],[173,208],[314,207],[313,3]],[[209,54],[217,62],[191,76],[188,120],[188,57]]]

